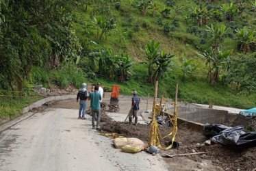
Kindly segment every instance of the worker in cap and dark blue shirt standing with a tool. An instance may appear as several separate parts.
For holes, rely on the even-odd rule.
[[[133,92],[133,97],[131,98],[131,107],[132,107],[132,112],[129,113],[129,124],[132,124],[132,119],[135,118],[135,123],[136,125],[138,123],[138,110],[140,109],[140,97],[138,96],[138,92],[134,91]]]

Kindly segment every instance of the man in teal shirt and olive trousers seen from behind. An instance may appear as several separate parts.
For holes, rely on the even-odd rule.
[[[99,87],[95,86],[94,92],[90,92],[88,100],[90,101],[90,108],[92,109],[92,129],[95,129],[95,114],[97,114],[97,129],[99,129],[99,122],[101,120],[101,94],[98,92]]]

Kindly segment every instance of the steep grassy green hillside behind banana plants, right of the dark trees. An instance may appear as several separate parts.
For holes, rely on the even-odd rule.
[[[129,77],[129,81],[123,83],[104,77],[93,77],[90,81],[101,81],[107,88],[111,88],[112,84],[119,84],[122,94],[129,94],[132,90],[138,90],[142,96],[146,96],[148,93],[153,95],[153,84],[147,83],[148,62],[143,50],[149,40],[155,40],[155,42],[161,42],[162,49],[175,54],[176,57],[175,67],[166,74],[166,77],[159,80],[159,94],[173,97],[175,84],[179,83],[179,96],[183,101],[245,108],[256,105],[255,89],[251,88],[255,85],[252,83],[255,82],[255,76],[251,75],[246,80],[240,78],[241,81],[246,81],[252,85],[250,88],[246,86],[245,88],[241,86],[241,83],[236,83],[230,78],[231,74],[229,73],[231,72],[221,70],[219,81],[211,84],[207,79],[209,66],[205,66],[206,61],[199,58],[199,54],[209,51],[214,41],[207,26],[216,27],[220,24],[226,26],[227,32],[219,39],[219,47],[223,51],[233,50],[230,56],[232,62],[233,59],[238,60],[238,56],[247,56],[251,53],[253,54],[252,58],[255,58],[255,53],[253,53],[255,51],[255,34],[254,44],[252,43],[250,50],[246,53],[240,51],[240,40],[236,36],[237,31],[245,25],[251,30],[255,29],[254,1],[240,1],[240,3],[164,0],[109,2],[101,4],[100,1],[94,1],[88,4],[87,8],[86,4],[81,3],[79,10],[74,13],[76,34],[82,47],[85,47],[85,55],[81,63],[84,61],[88,64],[90,52],[110,48],[117,55],[129,53],[133,57],[132,76]],[[146,3],[147,5],[145,5]],[[140,5],[147,6],[146,15],[142,15]],[[225,12],[225,6],[235,9],[235,14]],[[153,8],[157,9],[154,17]],[[165,10],[169,10],[169,13],[166,13],[167,16],[164,16]],[[97,25],[94,24],[94,17],[99,16],[114,18],[116,21],[114,29],[110,29],[107,34],[104,34],[107,37],[103,36],[101,40],[97,39]],[[101,30],[100,28],[100,33]],[[197,66],[192,78],[189,76],[183,78],[183,57],[192,60],[192,66]],[[254,61],[251,59],[251,62]],[[236,63],[231,63],[230,67],[232,68],[234,65]],[[86,65],[84,67],[90,68]],[[240,67],[243,70],[242,66]],[[256,68],[256,65],[253,64],[251,69],[253,67]],[[237,86],[240,90],[235,92]]]

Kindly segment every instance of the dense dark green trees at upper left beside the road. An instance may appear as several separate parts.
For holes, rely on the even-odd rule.
[[[0,86],[23,91],[34,66],[74,63],[81,46],[73,30],[70,1],[1,1]]]

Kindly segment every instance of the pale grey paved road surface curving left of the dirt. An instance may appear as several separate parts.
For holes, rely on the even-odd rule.
[[[0,170],[168,170],[159,155],[120,152],[77,113],[49,108],[1,125]]]

